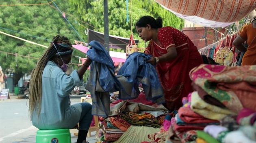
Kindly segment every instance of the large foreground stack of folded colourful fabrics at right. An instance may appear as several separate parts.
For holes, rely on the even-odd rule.
[[[195,92],[182,99],[166,143],[256,143],[256,65],[202,64],[190,78]]]

